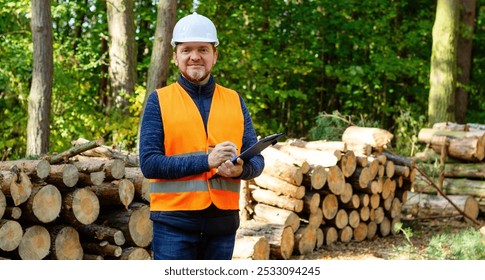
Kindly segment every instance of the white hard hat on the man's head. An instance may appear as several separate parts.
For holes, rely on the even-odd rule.
[[[172,46],[183,42],[207,42],[219,45],[216,27],[210,19],[193,13],[181,18],[173,29]]]

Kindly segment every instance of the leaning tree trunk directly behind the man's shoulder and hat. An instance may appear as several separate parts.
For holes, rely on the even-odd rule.
[[[138,137],[140,139],[140,127],[143,121],[146,100],[149,94],[167,84],[168,69],[171,59],[173,27],[177,20],[177,0],[160,0],[158,3],[157,26],[155,29],[155,39],[153,40],[152,57],[150,68],[148,69],[147,88],[143,108],[140,114],[140,125],[138,127]],[[137,143],[137,148],[138,148]],[[137,149],[138,150],[138,149]]]

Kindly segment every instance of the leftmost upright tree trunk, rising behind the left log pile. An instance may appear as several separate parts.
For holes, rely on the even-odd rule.
[[[36,156],[49,150],[49,115],[54,72],[50,0],[32,0],[31,29],[34,53],[26,155]]]

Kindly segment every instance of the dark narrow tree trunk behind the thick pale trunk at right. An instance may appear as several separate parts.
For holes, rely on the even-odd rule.
[[[457,81],[455,104],[456,121],[465,123],[467,112],[468,92],[465,86],[470,81],[470,70],[472,60],[472,42],[475,32],[476,0],[461,0],[460,23],[462,23],[458,36],[457,50]]]

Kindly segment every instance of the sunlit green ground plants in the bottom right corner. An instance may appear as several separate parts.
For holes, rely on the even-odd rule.
[[[432,260],[485,260],[485,242],[477,229],[434,236],[426,252]]]

